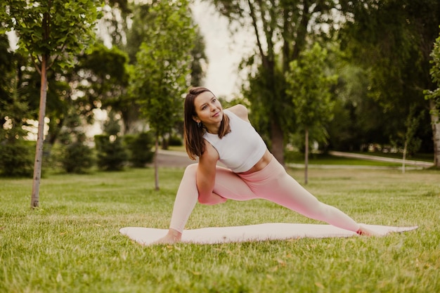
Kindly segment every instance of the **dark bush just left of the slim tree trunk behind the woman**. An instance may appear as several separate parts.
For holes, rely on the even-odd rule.
[[[136,135],[124,136],[124,143],[129,150],[129,162],[133,167],[145,167],[145,164],[153,162],[154,145],[153,136],[148,132]]]

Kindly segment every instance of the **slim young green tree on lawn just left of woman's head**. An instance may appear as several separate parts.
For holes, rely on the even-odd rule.
[[[188,1],[160,1],[150,8],[148,41],[136,54],[138,64],[133,91],[141,112],[155,133],[155,188],[159,189],[157,150],[160,138],[181,119],[181,96],[190,79],[191,50],[195,39]]]

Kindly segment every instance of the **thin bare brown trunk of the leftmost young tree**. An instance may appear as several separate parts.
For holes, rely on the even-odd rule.
[[[40,105],[38,117],[37,148],[35,150],[34,160],[34,179],[32,183],[31,208],[39,207],[39,186],[41,182],[41,165],[43,160],[44,145],[44,117],[46,116],[46,96],[47,96],[47,56],[41,60],[41,87],[40,87]]]

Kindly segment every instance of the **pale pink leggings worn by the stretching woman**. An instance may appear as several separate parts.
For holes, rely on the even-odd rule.
[[[186,167],[176,200],[169,228],[183,231],[198,201],[195,176],[198,164]],[[333,226],[356,232],[360,226],[347,214],[328,204],[319,202],[285,171],[275,159],[264,169],[251,174],[235,174],[230,169],[216,167],[214,193],[230,200],[265,199],[297,211],[304,216]]]

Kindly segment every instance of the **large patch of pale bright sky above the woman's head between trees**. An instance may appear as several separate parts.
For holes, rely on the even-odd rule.
[[[228,20],[216,13],[215,8],[196,0],[193,17],[205,38],[206,54],[209,60],[205,84],[216,96],[233,98],[240,92],[238,64],[246,53],[252,51],[252,34],[244,30],[233,35],[228,30]]]

